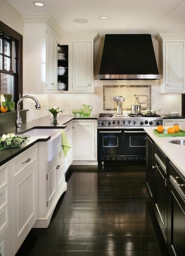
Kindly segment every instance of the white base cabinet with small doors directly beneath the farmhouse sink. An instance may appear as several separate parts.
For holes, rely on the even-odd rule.
[[[59,198],[67,190],[64,154],[61,151],[49,162],[48,142],[39,142],[38,158],[38,218],[34,228],[47,228]]]

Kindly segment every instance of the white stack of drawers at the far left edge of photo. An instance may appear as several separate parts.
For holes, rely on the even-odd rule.
[[[8,244],[8,199],[7,199],[7,165],[0,166],[0,253],[9,256]]]

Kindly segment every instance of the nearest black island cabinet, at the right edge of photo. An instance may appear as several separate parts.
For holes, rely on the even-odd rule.
[[[168,248],[173,256],[185,255],[185,179],[169,163],[169,241]]]

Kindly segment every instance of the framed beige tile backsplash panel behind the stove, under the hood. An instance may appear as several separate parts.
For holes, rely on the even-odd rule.
[[[151,107],[151,85],[104,85],[104,110],[117,110],[117,103],[113,98],[118,95],[125,98],[123,110],[130,110],[130,105],[139,103],[144,103],[141,104],[142,109]]]

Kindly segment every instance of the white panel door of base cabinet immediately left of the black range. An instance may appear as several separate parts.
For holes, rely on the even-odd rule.
[[[95,122],[74,122],[73,160],[95,160]]]

